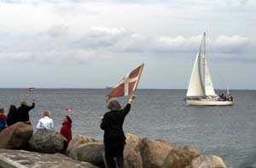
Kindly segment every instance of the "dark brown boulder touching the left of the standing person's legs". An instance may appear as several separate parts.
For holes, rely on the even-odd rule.
[[[104,144],[102,142],[85,143],[79,148],[74,148],[69,153],[73,160],[90,162],[92,165],[104,167],[102,153]]]

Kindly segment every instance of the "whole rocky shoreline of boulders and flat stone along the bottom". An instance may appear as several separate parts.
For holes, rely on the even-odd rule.
[[[201,154],[195,147],[175,147],[164,139],[153,140],[132,133],[125,133],[125,137],[125,168],[226,167],[220,157]],[[0,168],[4,163],[8,165],[8,161],[25,167],[106,167],[101,141],[79,135],[67,145],[58,132],[33,133],[32,126],[21,122],[0,133],[0,148],[4,148],[0,149]]]

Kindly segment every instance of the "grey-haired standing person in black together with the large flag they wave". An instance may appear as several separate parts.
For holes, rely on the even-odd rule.
[[[118,165],[119,168],[124,167],[124,147],[125,147],[125,133],[123,131],[123,124],[125,116],[128,115],[133,99],[135,98],[135,92],[137,84],[142,74],[143,65],[132,70],[127,74],[122,81],[108,94],[108,111],[102,117],[101,128],[104,130],[104,146],[105,157],[108,168],[115,168]],[[116,97],[127,96],[131,94],[131,98],[122,109],[121,104]],[[115,158],[115,160],[114,160]]]

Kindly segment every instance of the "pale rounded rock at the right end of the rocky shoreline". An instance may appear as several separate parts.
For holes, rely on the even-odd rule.
[[[199,157],[192,161],[192,168],[226,168],[224,161],[215,155],[201,154]]]

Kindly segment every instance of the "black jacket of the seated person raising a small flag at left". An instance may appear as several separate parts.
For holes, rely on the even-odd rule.
[[[21,105],[15,114],[15,120],[16,121],[21,121],[21,122],[26,122],[29,120],[29,115],[28,112],[31,109],[35,108],[35,103],[32,103],[32,106],[27,106],[27,105]]]

